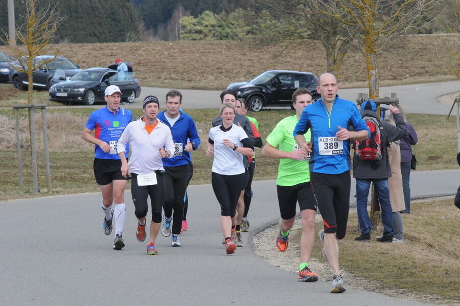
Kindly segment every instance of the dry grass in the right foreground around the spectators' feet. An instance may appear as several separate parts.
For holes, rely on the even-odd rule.
[[[355,242],[360,232],[357,215],[351,213],[347,236],[339,242],[341,268],[377,281],[377,291],[407,289],[460,302],[456,283],[460,273],[460,210],[453,205],[453,199],[416,203],[411,209],[412,214],[403,214],[405,242],[392,244],[375,242],[377,231],[372,232],[371,242]],[[316,224],[317,231],[321,226],[322,223]],[[293,231],[294,244],[300,243],[300,233],[301,230]],[[312,257],[327,264],[322,248],[321,243],[316,243]]]

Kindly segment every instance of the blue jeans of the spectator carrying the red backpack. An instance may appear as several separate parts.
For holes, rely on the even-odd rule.
[[[382,212],[383,236],[393,236],[393,210],[389,201],[388,180],[356,180],[356,207],[361,233],[368,234],[372,228],[371,218],[367,213],[367,195],[369,195],[372,181],[374,182],[375,192],[377,192]]]

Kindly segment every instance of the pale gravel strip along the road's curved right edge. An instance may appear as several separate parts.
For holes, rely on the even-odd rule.
[[[436,198],[436,200],[452,198],[451,196]],[[428,202],[432,199],[423,199],[413,201],[414,203],[417,202]],[[356,213],[355,208],[351,208],[350,213]],[[316,222],[321,222],[320,215],[316,215]],[[300,234],[301,234],[301,222],[300,219],[294,223],[294,227],[290,231],[290,242],[297,242],[300,241]],[[259,232],[254,236],[252,240],[252,249],[254,252],[262,257],[264,260],[268,261],[271,265],[275,267],[280,267],[284,270],[287,270],[292,273],[296,273],[298,271],[298,258],[300,258],[300,248],[298,244],[289,244],[289,248],[286,252],[282,253],[279,252],[275,246],[275,240],[278,235],[279,226],[274,225],[270,226],[269,228]],[[319,240],[315,236],[315,243],[319,243]],[[332,272],[330,270],[329,264],[323,258],[311,258],[310,265],[312,270],[319,275],[318,281],[326,281],[330,282],[332,277]],[[292,279],[295,279],[295,276],[292,276]],[[420,292],[412,292],[407,289],[392,289],[388,288],[383,283],[365,279],[358,275],[353,275],[346,271],[344,276],[346,281],[346,287],[350,287],[353,289],[359,290],[366,290],[376,293],[381,293],[387,296],[401,298],[405,300],[417,301],[422,303],[427,303],[430,305],[458,305],[457,301],[453,300],[446,300],[442,297],[430,295],[430,294],[423,294]]]

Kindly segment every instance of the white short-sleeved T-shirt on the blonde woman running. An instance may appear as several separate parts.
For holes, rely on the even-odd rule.
[[[241,140],[247,138],[244,130],[238,125],[232,124],[232,128],[224,132],[219,125],[210,129],[209,138],[214,141],[212,171],[226,176],[244,173],[243,155],[223,144],[224,139],[229,139],[241,147],[243,145]]]

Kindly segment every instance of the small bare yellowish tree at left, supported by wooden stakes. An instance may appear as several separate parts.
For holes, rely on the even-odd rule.
[[[54,57],[44,61],[35,61],[34,57],[42,54],[47,47],[56,38],[56,30],[64,20],[59,14],[57,5],[48,6],[42,9],[36,8],[38,0],[22,0],[22,5],[26,7],[25,15],[19,16],[22,24],[16,27],[15,34],[18,45],[9,45],[10,50],[17,56],[17,65],[15,69],[19,72],[26,73],[28,76],[29,90],[27,95],[28,104],[32,103],[32,74],[35,70],[44,67],[45,64],[53,61],[59,53],[59,48],[54,51]],[[8,45],[7,38],[2,41]]]

